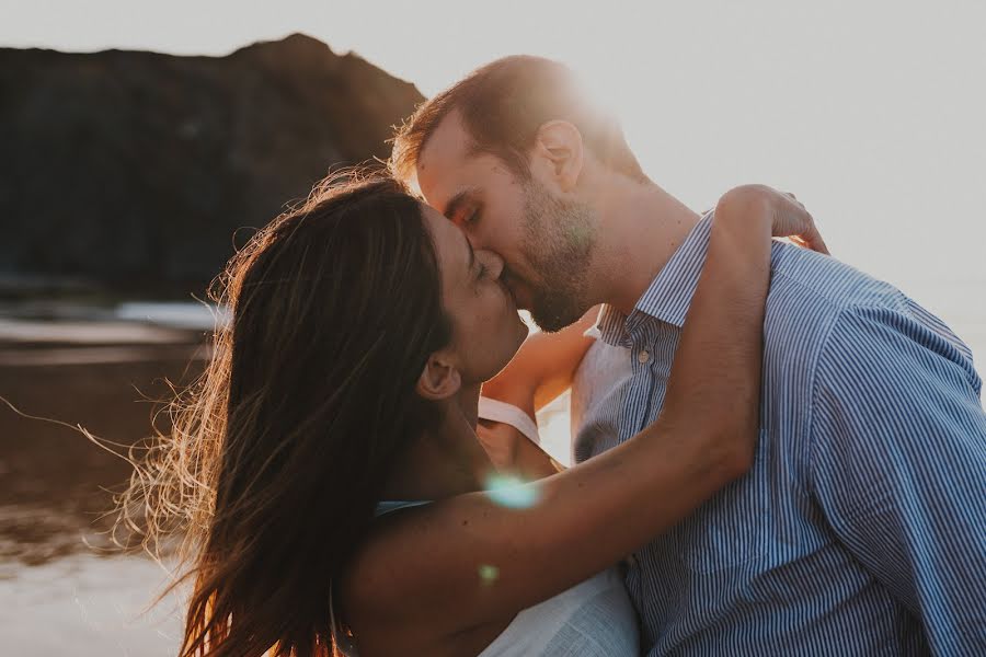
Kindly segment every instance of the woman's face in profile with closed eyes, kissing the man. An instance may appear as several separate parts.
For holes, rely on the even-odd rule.
[[[452,349],[465,384],[492,379],[527,337],[509,289],[501,281],[503,261],[475,251],[465,233],[435,208],[422,205],[442,273],[442,303],[452,324]]]

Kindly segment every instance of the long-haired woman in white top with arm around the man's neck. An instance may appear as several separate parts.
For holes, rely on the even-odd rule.
[[[230,263],[231,324],[144,471],[151,526],[188,535],[181,655],[634,654],[611,567],[749,468],[770,235],[812,231],[723,196],[661,418],[486,492],[480,385],[527,334],[502,262],[391,180],[317,189]]]

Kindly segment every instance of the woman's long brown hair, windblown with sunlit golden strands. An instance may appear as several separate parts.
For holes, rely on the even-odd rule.
[[[399,183],[336,177],[217,281],[230,323],[123,508],[185,537],[181,657],[332,655],[330,581],[435,419],[414,392],[451,337],[434,245]]]

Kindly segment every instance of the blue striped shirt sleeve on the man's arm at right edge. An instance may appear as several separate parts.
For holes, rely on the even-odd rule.
[[[810,476],[838,539],[935,654],[986,654],[986,415],[951,333],[845,311],[814,382]]]

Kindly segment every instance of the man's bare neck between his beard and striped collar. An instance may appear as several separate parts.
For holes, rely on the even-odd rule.
[[[629,315],[699,215],[655,185],[623,177],[601,195],[600,300]]]

